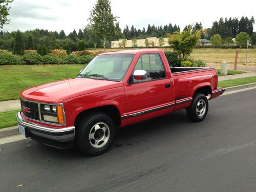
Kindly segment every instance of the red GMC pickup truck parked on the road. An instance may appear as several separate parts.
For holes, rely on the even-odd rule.
[[[171,64],[171,63],[170,63]],[[214,68],[170,68],[161,50],[127,50],[96,56],[76,78],[20,92],[18,131],[41,143],[99,155],[117,127],[181,109],[202,121],[218,89]]]

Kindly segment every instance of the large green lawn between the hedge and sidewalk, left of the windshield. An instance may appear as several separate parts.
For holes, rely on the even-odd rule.
[[[67,65],[69,78],[76,77],[84,65]],[[19,98],[23,89],[67,79],[65,65],[9,65],[0,66],[0,101]]]

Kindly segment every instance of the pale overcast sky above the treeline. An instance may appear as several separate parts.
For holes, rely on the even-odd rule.
[[[63,29],[68,34],[89,24],[88,17],[95,3],[96,0],[14,0],[9,16],[11,23],[5,25],[3,30],[39,28],[59,32]],[[112,0],[111,6],[113,14],[120,17],[118,21],[122,30],[125,25],[146,29],[148,24],[158,26],[169,23],[177,24],[183,30],[185,25],[196,22],[208,28],[220,17],[256,17],[256,1],[248,0],[239,3],[230,0]]]

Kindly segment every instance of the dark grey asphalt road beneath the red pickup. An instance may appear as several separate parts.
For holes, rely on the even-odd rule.
[[[256,191],[256,89],[210,101],[200,123],[182,110],[120,129],[97,157],[31,139],[0,149],[0,191]]]

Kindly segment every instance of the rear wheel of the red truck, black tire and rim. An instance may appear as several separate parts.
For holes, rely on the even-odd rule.
[[[194,96],[190,106],[186,109],[187,117],[194,122],[204,120],[208,112],[208,99],[202,93],[198,93]]]

